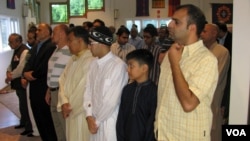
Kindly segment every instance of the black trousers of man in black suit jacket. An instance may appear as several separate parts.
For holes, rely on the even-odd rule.
[[[45,94],[30,91],[30,104],[42,140],[57,141],[50,106],[45,102]]]

